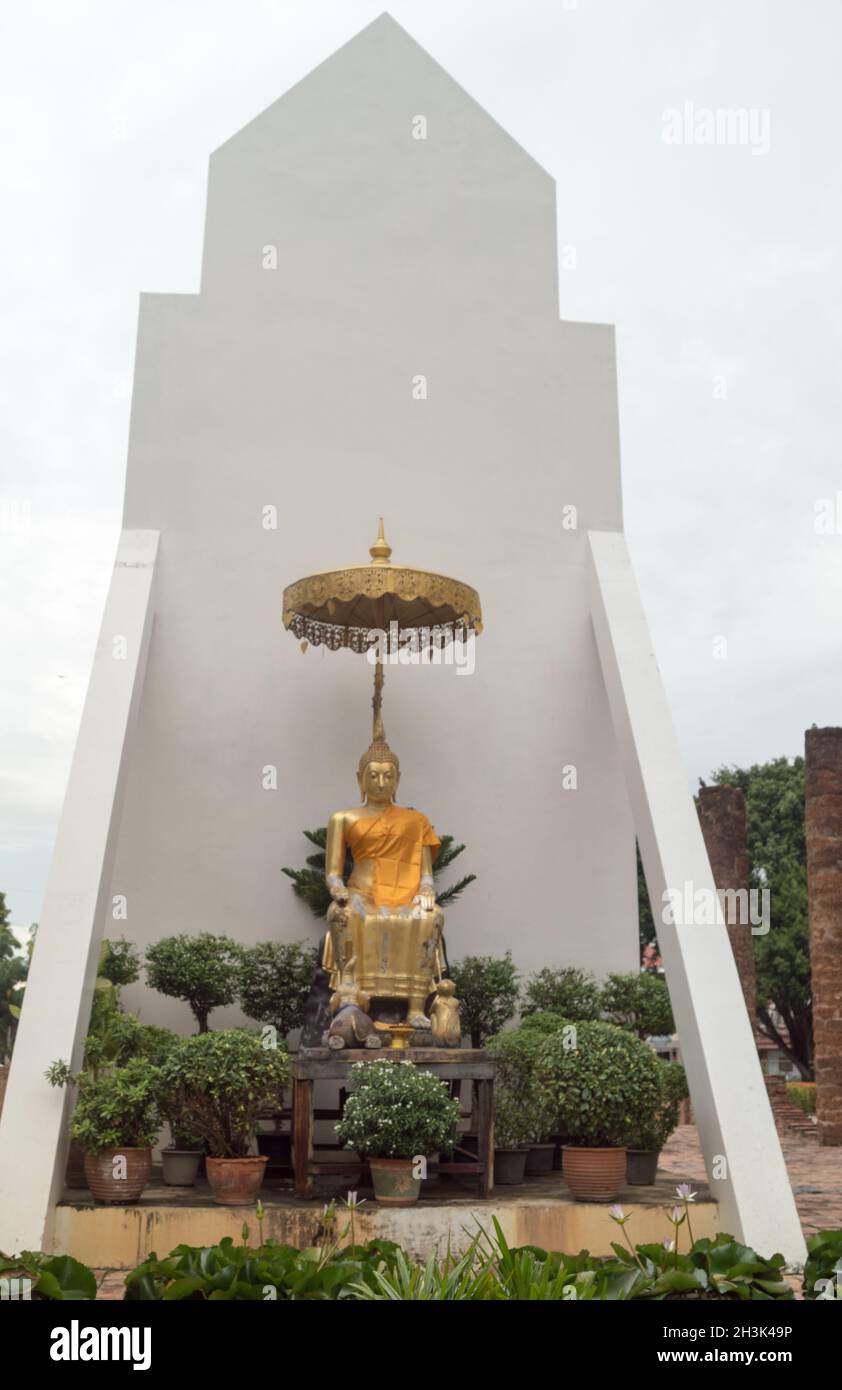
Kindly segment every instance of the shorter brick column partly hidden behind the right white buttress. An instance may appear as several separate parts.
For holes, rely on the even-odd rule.
[[[707,858],[717,888],[749,890],[749,849],[746,840],[746,801],[739,787],[702,787],[699,791],[699,821]],[[746,899],[748,902],[748,899]],[[746,1009],[754,1027],[757,976],[754,970],[754,938],[748,922],[729,924],[728,937],[736,960]]]

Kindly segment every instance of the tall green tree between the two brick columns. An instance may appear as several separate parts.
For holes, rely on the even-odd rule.
[[[717,784],[741,787],[752,888],[770,891],[770,931],[753,937],[757,1022],[763,1033],[813,1076],[813,1008],[804,844],[804,760],[775,758],[752,767],[720,767]],[[788,1037],[778,1019],[784,1020]]]

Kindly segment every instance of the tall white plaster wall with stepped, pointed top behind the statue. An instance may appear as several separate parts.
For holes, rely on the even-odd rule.
[[[586,587],[585,532],[621,527],[614,345],[559,322],[554,202],[388,17],[211,157],[201,293],[140,307],[125,525],[161,542],[113,880],[129,915],[107,934],[315,941],[281,866],[356,798],[371,669],[302,655],[281,594],[364,563],[382,514],[395,562],[484,606],[474,676],[386,671],[402,801],[479,876],[449,913],[450,956],[635,967],[634,831]],[[188,1024],[140,987],[128,1002]]]

